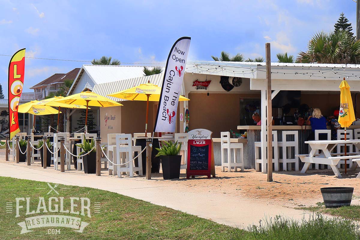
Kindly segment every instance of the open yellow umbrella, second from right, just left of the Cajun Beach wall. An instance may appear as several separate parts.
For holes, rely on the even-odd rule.
[[[54,101],[58,103],[86,105],[85,132],[87,125],[87,109],[89,108],[89,106],[103,107],[103,108],[123,106],[122,104],[117,103],[116,101],[105,98],[99,94],[90,91],[80,92]]]

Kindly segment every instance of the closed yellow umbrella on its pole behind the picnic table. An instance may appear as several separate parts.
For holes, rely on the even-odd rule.
[[[340,110],[338,122],[345,129],[345,140],[346,140],[346,128],[349,127],[352,122],[355,121],[355,112],[354,107],[352,106],[352,99],[350,93],[350,86],[344,80],[340,83]],[[346,156],[346,144],[345,144],[345,156]],[[346,159],[345,159],[345,173],[346,169]]]

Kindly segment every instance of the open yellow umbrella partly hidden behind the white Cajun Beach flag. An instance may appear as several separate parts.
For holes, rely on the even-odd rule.
[[[146,103],[146,122],[145,122],[145,134],[148,132],[148,114],[149,114],[149,101],[159,101],[161,94],[161,87],[150,83],[140,84],[136,87],[131,87],[120,92],[114,92],[108,96],[115,98],[121,98],[125,100],[147,101]],[[179,96],[179,101],[189,101],[190,99],[184,96]]]

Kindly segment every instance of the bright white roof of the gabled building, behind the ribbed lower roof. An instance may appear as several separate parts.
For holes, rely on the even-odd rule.
[[[146,67],[152,68],[158,66],[146,66]],[[143,76],[144,75],[143,69],[144,66],[82,65],[78,75],[75,78],[73,85],[69,90],[68,95],[73,94],[73,90],[77,86],[78,82],[80,81],[84,73],[89,76],[90,80],[92,80],[92,82],[89,82],[89,84],[91,85],[90,87],[91,89],[101,83],[114,82],[114,81],[120,81],[124,79]]]

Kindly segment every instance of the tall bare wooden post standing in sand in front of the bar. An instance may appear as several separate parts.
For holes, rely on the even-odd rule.
[[[271,101],[271,53],[270,43],[265,44],[266,50],[266,101],[267,101],[267,181],[273,181],[273,111]],[[285,141],[283,139],[283,141]]]

